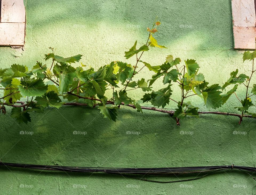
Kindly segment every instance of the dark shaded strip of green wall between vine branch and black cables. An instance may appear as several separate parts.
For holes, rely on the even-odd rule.
[[[121,109],[115,123],[88,109],[46,109],[28,125],[1,115],[1,121],[10,120],[1,132],[2,161],[95,167],[255,164],[252,119],[238,125],[236,117],[203,115],[177,126],[164,113]]]

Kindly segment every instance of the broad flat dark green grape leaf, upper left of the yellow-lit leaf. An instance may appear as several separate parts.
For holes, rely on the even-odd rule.
[[[18,86],[22,96],[42,96],[48,89],[42,79],[24,77]]]

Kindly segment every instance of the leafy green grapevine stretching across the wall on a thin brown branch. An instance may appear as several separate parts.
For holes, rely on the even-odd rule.
[[[168,55],[162,65],[151,66],[144,62],[141,59],[142,54],[150,47],[166,48],[159,45],[152,36],[158,32],[157,27],[160,24],[156,22],[152,28],[147,28],[147,41],[139,49],[136,48],[135,41],[133,47],[125,52],[126,59],[135,59],[132,64],[113,61],[98,70],[92,67],[86,69],[82,63],[73,66],[73,63],[81,60],[82,55],[63,58],[55,55],[54,49],[50,48],[52,52],[45,55],[46,61],[51,59],[49,64],[43,65],[37,61],[30,71],[26,66],[19,64],[0,69],[0,85],[3,87],[0,110],[5,114],[5,105],[13,106],[11,117],[19,123],[27,123],[31,121],[29,112],[42,113],[47,107],[60,108],[63,105],[87,105],[91,108],[98,107],[104,117],[116,121],[117,109],[124,105],[137,109],[138,112],[142,112],[142,109],[167,112],[165,108],[171,106],[171,102],[175,102],[175,110],[168,113],[179,124],[179,120],[187,116],[199,117],[199,108],[191,105],[190,101],[185,101],[190,96],[203,101],[209,110],[217,109],[235,94],[239,86],[244,85],[246,97],[243,100],[237,97],[237,104],[240,105],[235,107],[241,112],[241,115],[238,115],[240,122],[245,113],[256,117],[252,111],[254,103],[251,99],[251,96],[256,95],[256,84],[250,83],[254,69],[250,77],[245,74],[238,75],[238,70],[231,72],[230,78],[221,87],[214,83],[209,85],[205,81],[205,76],[199,72],[200,66],[194,59],[181,62],[180,58]],[[243,61],[249,60],[254,63],[255,57],[256,51],[246,51],[243,54]],[[137,74],[141,73],[143,68],[152,73],[151,79],[138,79]],[[162,86],[154,86],[156,80],[161,80]],[[177,96],[173,97],[173,89],[179,90],[178,99],[175,99]],[[137,99],[141,98],[139,101],[150,103],[153,107],[141,106],[130,97],[130,90],[145,92],[142,98]],[[18,106],[19,104],[22,106]]]

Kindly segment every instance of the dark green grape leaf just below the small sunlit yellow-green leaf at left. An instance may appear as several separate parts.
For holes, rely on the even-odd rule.
[[[59,99],[58,94],[56,94],[54,91],[49,91],[42,97],[36,97],[35,101],[37,101],[37,105],[41,105],[44,108],[47,106],[60,108],[63,104],[63,102],[61,102],[61,99]]]

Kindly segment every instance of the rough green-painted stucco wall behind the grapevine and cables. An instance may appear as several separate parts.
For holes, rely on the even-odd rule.
[[[143,61],[159,65],[169,54],[196,59],[211,84],[223,84],[236,68],[247,72],[242,51],[233,50],[230,0],[219,1],[67,1],[27,0],[24,51],[0,47],[0,67],[19,63],[32,67],[43,61],[48,47],[61,56],[83,54],[82,62],[100,67],[113,60],[125,60],[138,40],[147,38],[158,16],[162,25],[156,38],[168,49],[150,49]],[[133,63],[134,59],[127,60]],[[78,65],[78,64],[77,64]],[[144,70],[148,79],[152,72]],[[139,77],[137,77],[138,79]],[[254,80],[255,81],[255,80]],[[158,88],[161,81],[154,85]],[[174,87],[174,90],[177,89]],[[245,90],[239,87],[238,95]],[[130,96],[140,99],[142,91]],[[174,98],[179,95],[174,92]],[[255,99],[254,99],[255,100]],[[190,101],[206,110],[199,97]],[[219,111],[236,112],[238,100],[232,96]],[[146,104],[145,104],[146,105]],[[169,108],[174,108],[171,103]],[[86,107],[49,108],[34,113],[32,123],[17,124],[0,115],[0,157],[3,162],[99,167],[171,167],[245,165],[254,166],[256,123],[231,116],[188,117],[177,126],[164,113],[130,108],[118,110],[116,123],[103,119],[98,109]],[[33,135],[20,135],[20,131]],[[74,135],[85,131],[86,135]],[[140,135],[127,135],[127,131]],[[181,131],[193,132],[182,135]],[[234,131],[246,132],[235,135]],[[106,174],[57,173],[0,168],[0,194],[252,194],[255,181],[246,173],[226,171],[201,180],[159,184]],[[195,177],[191,176],[191,177]],[[177,180],[183,176],[154,178]],[[24,186],[24,188],[22,188]]]

